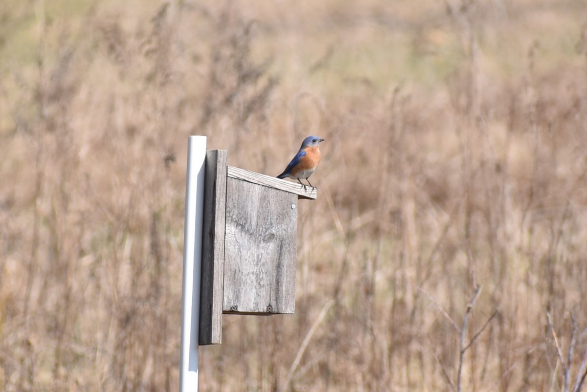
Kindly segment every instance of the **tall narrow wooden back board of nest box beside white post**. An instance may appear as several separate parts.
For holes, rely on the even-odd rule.
[[[200,285],[200,345],[222,342],[226,161],[226,150],[210,150],[206,153]]]

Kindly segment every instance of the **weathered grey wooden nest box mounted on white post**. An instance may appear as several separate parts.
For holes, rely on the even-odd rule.
[[[206,154],[200,344],[219,344],[222,313],[291,314],[295,309],[298,199],[316,188],[227,165]]]

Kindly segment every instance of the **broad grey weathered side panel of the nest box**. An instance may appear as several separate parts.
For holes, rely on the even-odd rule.
[[[297,223],[298,194],[229,174],[224,313],[294,313]]]

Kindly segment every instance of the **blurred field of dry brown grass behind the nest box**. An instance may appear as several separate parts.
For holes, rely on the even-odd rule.
[[[326,138],[296,313],[225,316],[201,390],[572,391],[585,23],[578,0],[2,0],[0,391],[178,390],[190,134],[270,175]]]

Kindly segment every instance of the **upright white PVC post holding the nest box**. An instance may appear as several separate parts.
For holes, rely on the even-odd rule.
[[[184,270],[181,306],[180,392],[198,390],[200,273],[204,217],[206,137],[188,137],[185,184]]]

